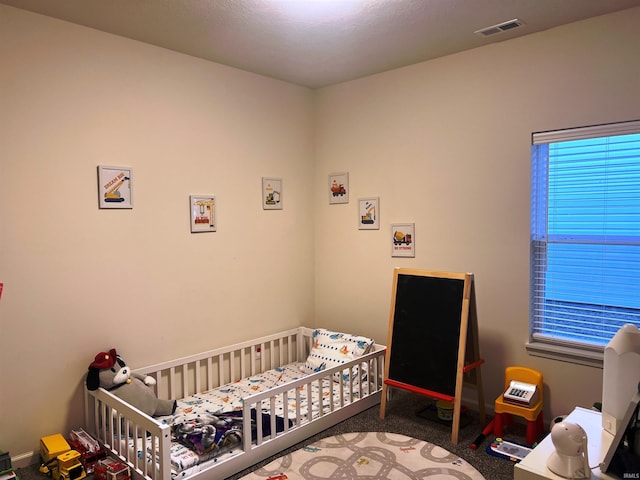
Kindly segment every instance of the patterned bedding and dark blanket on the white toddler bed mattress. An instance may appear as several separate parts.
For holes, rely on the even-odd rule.
[[[258,375],[243,378],[242,380],[223,385],[205,393],[192,395],[177,401],[177,408],[173,415],[158,417],[162,423],[171,426],[171,463],[172,477],[185,477],[201,469],[201,464],[210,459],[221,459],[223,456],[232,455],[242,447],[242,398],[253,395],[275,386],[307,376],[303,372],[303,363],[293,363],[282,368],[269,370]],[[318,382],[311,384],[311,401],[307,402],[307,388],[300,389],[300,415],[307,418],[309,412],[307,405],[311,405],[312,416],[319,413],[320,391],[324,401],[323,408],[328,410],[327,397],[332,396],[334,405],[340,403],[342,391],[345,398],[349,395],[349,389],[340,388],[339,383],[324,379],[322,387]],[[331,393],[330,393],[331,391]],[[357,396],[356,392],[353,393]],[[293,398],[289,398],[293,397]],[[265,402],[266,403],[266,402]],[[262,432],[270,434],[269,405],[263,406]],[[283,402],[282,395],[277,397],[275,404],[276,429],[284,428],[284,410],[288,410],[287,418],[296,418],[296,398],[289,394],[287,405]],[[256,420],[256,412],[252,411],[252,419]],[[267,415],[265,415],[265,413]],[[252,425],[252,430],[255,425]],[[255,432],[254,432],[255,433]],[[255,435],[253,436],[255,438]],[[140,442],[137,455],[141,456]],[[133,447],[133,445],[131,445]],[[147,452],[147,458],[154,455]]]

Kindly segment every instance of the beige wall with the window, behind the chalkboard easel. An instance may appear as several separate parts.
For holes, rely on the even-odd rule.
[[[547,418],[600,401],[601,369],[525,350],[531,133],[640,117],[639,24],[636,8],[318,91],[316,323],[386,338],[393,267],[473,272],[486,401],[518,364],[543,372]],[[328,205],[343,170],[354,201]],[[357,230],[371,196],[381,229]],[[416,257],[391,258],[406,222]]]

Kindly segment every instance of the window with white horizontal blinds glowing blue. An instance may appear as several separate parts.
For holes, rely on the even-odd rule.
[[[533,134],[533,354],[601,365],[640,326],[640,121]]]

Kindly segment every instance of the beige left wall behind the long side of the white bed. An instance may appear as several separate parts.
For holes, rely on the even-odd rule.
[[[0,71],[0,449],[81,426],[102,350],[143,366],[313,322],[310,90],[5,6]],[[97,165],[133,168],[133,210],[97,208]],[[190,194],[216,233],[190,233]]]

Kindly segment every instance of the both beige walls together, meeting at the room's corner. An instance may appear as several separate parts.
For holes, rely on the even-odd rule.
[[[395,266],[476,275],[488,404],[513,364],[543,371],[548,415],[600,400],[601,370],[524,349],[529,143],[640,116],[639,22],[312,92],[0,6],[0,449],[78,427],[111,346],[140,366],[298,324],[384,343]],[[133,167],[133,210],[97,208],[97,165]],[[328,205],[339,171],[351,202]],[[283,178],[282,211],[262,211],[262,176]],[[189,233],[194,193],[216,195],[218,232]],[[357,229],[365,196],[379,231]],[[400,222],[415,259],[390,256]]]

